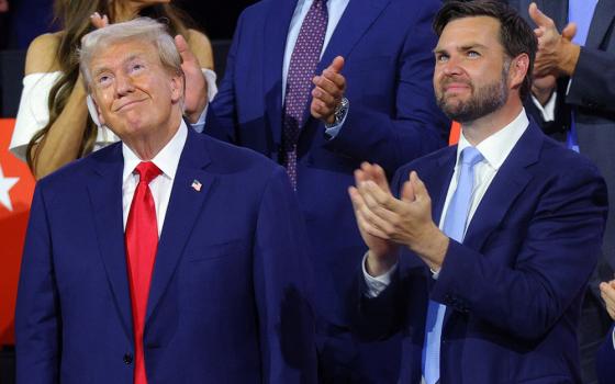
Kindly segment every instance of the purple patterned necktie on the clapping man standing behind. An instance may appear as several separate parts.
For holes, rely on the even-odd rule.
[[[290,58],[283,110],[282,163],[297,190],[297,142],[303,125],[303,112],[310,99],[328,21],[327,0],[313,0]]]

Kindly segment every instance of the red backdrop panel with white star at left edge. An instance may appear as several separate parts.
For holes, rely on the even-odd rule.
[[[34,178],[9,151],[13,118],[0,118],[0,346],[14,343],[13,314]]]

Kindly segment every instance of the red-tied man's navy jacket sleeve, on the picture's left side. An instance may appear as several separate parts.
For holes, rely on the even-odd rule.
[[[34,192],[21,264],[15,338],[16,382],[58,383],[62,323],[41,182]]]

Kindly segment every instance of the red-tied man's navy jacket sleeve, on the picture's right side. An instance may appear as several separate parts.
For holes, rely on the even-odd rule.
[[[306,237],[284,170],[276,168],[258,212],[254,284],[266,383],[315,383]]]

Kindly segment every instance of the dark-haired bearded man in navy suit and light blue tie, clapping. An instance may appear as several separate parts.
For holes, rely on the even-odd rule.
[[[434,87],[461,137],[400,168],[390,189],[381,167],[357,170],[369,247],[357,331],[405,332],[401,383],[579,383],[604,180],[528,118],[537,39],[514,9],[450,1],[434,27]]]

